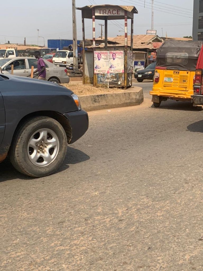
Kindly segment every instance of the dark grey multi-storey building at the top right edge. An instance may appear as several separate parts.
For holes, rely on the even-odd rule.
[[[194,0],[192,37],[203,40],[203,0]]]

